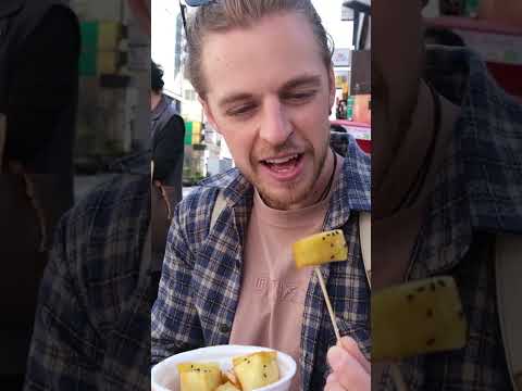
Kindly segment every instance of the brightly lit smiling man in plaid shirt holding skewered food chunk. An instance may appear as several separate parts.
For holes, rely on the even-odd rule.
[[[176,209],[152,310],[152,362],[204,345],[265,345],[298,363],[293,390],[344,390],[353,352],[366,375],[357,386],[368,390],[370,289],[358,222],[370,210],[370,159],[348,136],[344,148],[328,147],[335,79],[320,17],[309,0],[211,2],[196,10],[187,42],[189,77],[237,169],[203,181]],[[224,207],[211,227],[217,198]],[[296,269],[290,249],[334,228],[350,255],[321,270],[349,337],[330,352],[325,386],[334,329],[316,277]]]

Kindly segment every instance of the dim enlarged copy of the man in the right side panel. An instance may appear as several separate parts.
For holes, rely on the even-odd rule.
[[[494,250],[522,231],[522,110],[465,48],[423,47],[421,8],[372,8],[372,283],[449,274],[459,288],[465,346],[400,362],[409,390],[510,390]],[[386,365],[372,381],[395,389]]]

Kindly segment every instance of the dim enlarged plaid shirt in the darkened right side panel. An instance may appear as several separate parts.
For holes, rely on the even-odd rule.
[[[409,389],[511,390],[498,325],[495,235],[522,234],[522,106],[465,49],[432,48],[426,75],[461,105],[409,278],[452,275],[468,319],[462,350],[400,363]],[[521,238],[522,240],[522,238]],[[378,390],[394,390],[389,373]]]

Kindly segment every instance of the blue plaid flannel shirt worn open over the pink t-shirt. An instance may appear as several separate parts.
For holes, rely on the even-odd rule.
[[[324,265],[322,272],[343,335],[370,350],[369,299],[359,245],[358,212],[370,210],[370,157],[353,139],[336,135],[346,159],[324,228],[341,228],[349,243],[348,262]],[[219,191],[226,207],[209,232]],[[241,254],[253,189],[232,169],[203,181],[176,209],[169,234],[158,300],[152,310],[152,363],[190,349],[227,344],[239,299]],[[301,330],[302,390],[319,390],[327,375],[326,351],[335,335],[313,276]],[[289,319],[291,321],[291,319]]]

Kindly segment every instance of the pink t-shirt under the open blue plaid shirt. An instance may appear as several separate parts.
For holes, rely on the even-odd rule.
[[[302,314],[312,274],[311,267],[295,266],[291,244],[322,230],[330,198],[302,210],[277,211],[266,206],[256,192],[248,226],[241,292],[229,343],[289,354],[298,365],[291,391],[299,391],[301,382]]]

